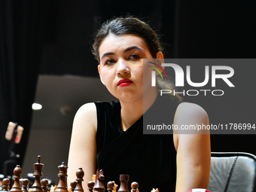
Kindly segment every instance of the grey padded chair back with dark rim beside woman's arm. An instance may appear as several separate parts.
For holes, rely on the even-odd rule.
[[[242,152],[212,152],[209,190],[255,192],[256,156]]]

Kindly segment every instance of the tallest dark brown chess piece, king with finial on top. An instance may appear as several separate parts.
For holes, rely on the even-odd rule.
[[[32,185],[31,190],[29,190],[30,192],[35,191],[35,192],[43,192],[42,188],[41,188],[41,176],[43,176],[43,173],[41,172],[42,169],[44,167],[44,164],[41,163],[41,156],[38,155],[38,161],[37,163],[34,163],[34,176],[35,176],[35,182]]]

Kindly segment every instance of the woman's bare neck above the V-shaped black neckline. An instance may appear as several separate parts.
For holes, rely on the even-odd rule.
[[[129,129],[149,108],[153,105],[157,99],[157,91],[153,94],[147,94],[143,99],[136,102],[122,102],[121,105],[121,125],[123,131]]]

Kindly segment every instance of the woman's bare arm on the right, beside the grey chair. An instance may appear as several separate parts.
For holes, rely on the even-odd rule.
[[[184,102],[177,108],[174,123],[178,127],[207,126],[209,118],[199,105]],[[211,166],[209,130],[194,130],[190,134],[177,133],[174,135],[177,151],[176,192],[187,192],[192,188],[207,189]]]

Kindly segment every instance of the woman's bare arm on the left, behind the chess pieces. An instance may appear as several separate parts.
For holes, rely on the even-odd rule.
[[[96,172],[96,105],[87,103],[75,114],[69,147],[68,183],[76,179],[79,167],[84,170],[84,184],[91,181]]]

